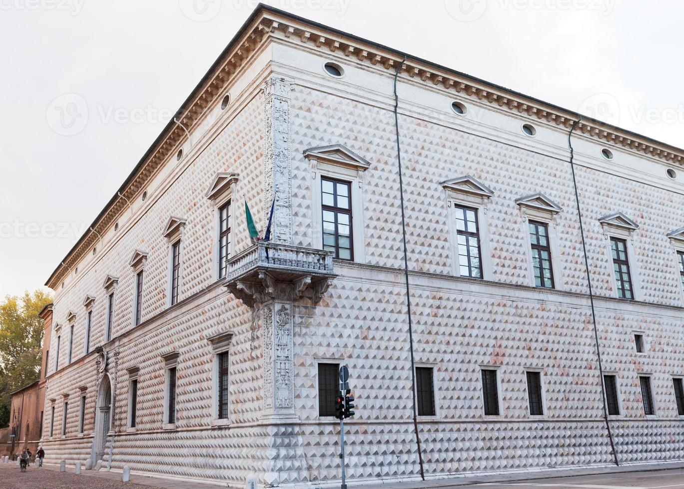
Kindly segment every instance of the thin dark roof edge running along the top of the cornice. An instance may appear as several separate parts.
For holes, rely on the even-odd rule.
[[[337,34],[338,36],[343,36],[343,37],[349,38],[350,40],[354,40],[356,42],[363,42],[365,44],[368,44],[369,46],[373,46],[375,48],[382,49],[388,53],[392,53],[392,54],[397,55],[399,57],[406,57],[406,59],[410,59],[412,61],[417,61],[418,63],[425,64],[427,66],[432,66],[434,68],[437,68],[438,70],[443,70],[444,72],[451,73],[455,76],[459,76],[461,78],[468,79],[470,81],[474,81],[475,83],[479,83],[479,84],[484,85],[486,87],[498,89],[498,90],[501,90],[503,92],[508,92],[509,94],[513,94],[515,96],[519,96],[522,98],[527,98],[528,100],[531,100],[532,102],[536,102],[538,104],[543,104],[543,105],[545,105],[545,106],[547,106],[550,109],[553,109],[555,111],[562,111],[562,112],[568,113],[570,115],[573,115],[577,119],[579,119],[581,117],[582,120],[593,122],[595,124],[601,124],[607,128],[611,128],[611,129],[623,132],[623,133],[625,133],[631,137],[637,137],[637,138],[643,139],[644,141],[649,141],[650,143],[655,143],[657,145],[661,145],[663,147],[668,148],[672,152],[679,152],[680,154],[684,154],[683,148],[678,148],[677,146],[674,146],[674,145],[671,145],[668,143],[663,143],[663,141],[658,141],[657,139],[653,139],[651,137],[640,135],[637,132],[633,132],[631,130],[620,128],[619,126],[614,126],[613,124],[609,124],[607,122],[603,122],[601,120],[594,119],[594,117],[589,117],[588,115],[583,115],[577,111],[571,111],[569,109],[564,109],[564,107],[560,107],[559,105],[552,104],[550,102],[545,102],[544,100],[541,100],[539,98],[535,98],[535,97],[523,94],[522,92],[517,92],[516,90],[509,89],[509,88],[503,87],[501,85],[497,85],[496,83],[492,83],[492,82],[477,78],[477,76],[472,76],[472,75],[469,75],[467,73],[460,72],[458,70],[453,70],[452,68],[447,68],[446,66],[442,66],[442,65],[434,63],[432,61],[428,61],[427,59],[423,59],[421,57],[417,57],[417,56],[411,55],[409,53],[405,53],[404,51],[399,51],[398,49],[391,48],[389,46],[385,46],[384,44],[380,44],[379,42],[374,42],[374,41],[362,38],[360,36],[355,36],[354,34],[350,34],[350,33],[347,33],[345,31],[341,31],[340,29],[335,29],[334,27],[330,27],[328,25],[324,25],[324,24],[315,22],[314,20],[309,20],[309,19],[304,18],[302,16],[291,14],[289,12],[286,12],[285,10],[280,10],[279,8],[275,8],[275,7],[272,7],[270,5],[265,5],[264,3],[259,3],[259,5],[257,5],[256,8],[254,8],[254,11],[252,12],[252,14],[250,14],[250,16],[247,18],[247,20],[245,20],[245,22],[241,25],[241,27],[237,31],[237,33],[235,33],[235,36],[233,36],[231,41],[228,42],[228,44],[226,45],[224,50],[220,53],[220,55],[218,55],[218,57],[215,59],[213,64],[211,64],[211,67],[209,68],[209,70],[207,70],[205,75],[202,76],[202,79],[200,79],[200,81],[197,83],[197,85],[194,87],[194,89],[192,89],[192,92],[190,92],[189,96],[187,96],[187,98],[185,98],[185,100],[183,101],[183,104],[181,104],[181,107],[179,107],[179,109],[174,113],[174,117],[172,117],[172,119],[168,122],[168,124],[166,124],[166,126],[164,126],[164,128],[159,133],[159,136],[157,136],[157,139],[155,139],[155,141],[152,143],[152,145],[150,145],[150,148],[148,148],[148,150],[145,152],[145,154],[142,156],[142,158],[140,158],[137,165],[135,165],[135,167],[133,168],[133,171],[131,171],[131,173],[126,178],[126,180],[124,180],[124,182],[121,184],[121,186],[119,186],[116,193],[114,193],[114,195],[111,197],[111,199],[109,199],[107,204],[105,204],[105,206],[103,207],[101,212],[96,216],[94,221],[90,224],[88,231],[90,230],[90,228],[95,227],[97,225],[98,221],[100,221],[103,218],[103,216],[105,215],[107,210],[109,210],[109,208],[116,201],[117,197],[119,196],[119,193],[122,193],[125,190],[126,186],[131,182],[131,180],[133,180],[136,173],[144,165],[145,160],[148,158],[148,156],[150,156],[150,154],[153,153],[153,151],[155,150],[157,145],[159,143],[161,143],[161,141],[163,141],[164,137],[166,136],[166,133],[170,129],[173,128],[174,124],[176,124],[174,122],[174,119],[176,118],[176,116],[182,114],[185,111],[185,109],[188,108],[188,104],[190,102],[192,102],[192,100],[194,100],[194,98],[198,95],[200,88],[203,85],[205,85],[205,83],[207,83],[207,81],[210,80],[211,74],[216,70],[216,68],[218,68],[220,66],[220,61],[222,61],[222,59],[224,59],[224,57],[226,57],[226,55],[228,55],[228,53],[235,47],[235,44],[237,43],[237,41],[242,36],[244,36],[248,27],[250,25],[252,25],[252,23],[254,23],[254,20],[257,19],[263,12],[272,12],[273,14],[278,14],[279,16],[282,16],[282,17],[287,18],[289,20],[295,20],[296,22],[311,25],[313,27],[317,27],[318,29],[330,31],[334,34]],[[66,260],[68,260],[70,255],[78,249],[78,247],[81,245],[81,243],[88,236],[88,231],[84,232],[83,235],[81,236],[81,238],[79,238],[79,240],[73,245],[73,247],[71,247],[71,249],[68,251],[68,253],[66,253],[64,258],[62,259],[62,262],[65,262]],[[47,279],[47,281],[44,283],[44,285],[49,287],[49,283],[55,278],[55,276],[57,275],[57,272],[59,272],[60,267],[62,266],[62,262],[60,262],[60,264],[57,265],[55,270],[53,270],[53,273],[51,273],[50,277]]]

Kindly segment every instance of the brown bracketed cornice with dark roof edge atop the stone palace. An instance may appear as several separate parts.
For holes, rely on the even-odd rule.
[[[406,56],[402,74],[419,83],[432,84],[447,92],[453,91],[460,96],[488,102],[522,117],[543,120],[568,129],[579,117],[578,113],[553,106],[542,100],[536,100],[456,70],[405,55],[392,48],[260,4],[209,68],[192,94],[183,102],[181,109],[162,130],[116,195],[111,197],[90,229],[81,236],[61,264],[55,268],[45,285],[53,290],[57,289],[57,284],[64,280],[68,270],[92,249],[98,242],[99,236],[104,234],[127,210],[129,202],[144,191],[148,182],[152,180],[169,156],[174,154],[176,148],[187,139],[187,132],[192,132],[198,126],[198,122],[205,117],[207,108],[215,102],[218,103],[218,98],[224,94],[226,87],[235,77],[239,76],[241,67],[246,64],[246,61],[271,38],[306,44],[321,51],[341,53],[377,68],[384,68],[392,74],[402,63],[402,58]],[[663,162],[684,165],[684,150],[590,117],[582,116],[576,131],[602,143],[641,152]]]

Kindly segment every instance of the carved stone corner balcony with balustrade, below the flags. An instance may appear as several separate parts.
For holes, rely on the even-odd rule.
[[[250,307],[302,296],[318,303],[335,277],[331,251],[261,241],[228,261],[226,287]]]

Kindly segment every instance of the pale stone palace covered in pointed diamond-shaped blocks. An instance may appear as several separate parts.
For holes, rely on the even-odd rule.
[[[335,484],[341,364],[350,481],[684,458],[682,150],[263,6],[176,119],[47,282],[48,462]]]

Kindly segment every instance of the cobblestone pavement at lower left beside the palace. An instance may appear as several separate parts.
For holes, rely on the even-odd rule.
[[[29,465],[26,472],[22,473],[16,462],[9,464],[0,463],[0,488],[1,489],[149,489],[150,486],[140,486],[131,482],[122,482],[118,474],[118,481],[91,475],[77,475],[74,468],[68,472],[59,472],[47,467]]]

